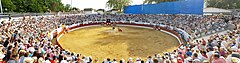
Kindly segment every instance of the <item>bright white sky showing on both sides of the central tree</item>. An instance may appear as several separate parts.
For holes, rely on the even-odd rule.
[[[80,10],[84,8],[93,8],[93,9],[108,9],[106,8],[106,2],[108,0],[72,0],[72,6],[77,7]],[[62,0],[63,4],[71,4],[71,0]],[[142,4],[143,0],[132,0],[131,5]]]

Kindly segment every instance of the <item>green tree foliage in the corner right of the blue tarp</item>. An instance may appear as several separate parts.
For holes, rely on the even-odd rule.
[[[240,0],[208,0],[208,7],[216,7],[223,9],[239,9]]]

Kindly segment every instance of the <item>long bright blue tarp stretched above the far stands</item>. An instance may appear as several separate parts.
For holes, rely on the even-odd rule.
[[[204,0],[180,0],[159,4],[132,5],[124,8],[126,14],[203,14]]]

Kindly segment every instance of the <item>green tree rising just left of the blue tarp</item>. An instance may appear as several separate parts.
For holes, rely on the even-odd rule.
[[[125,6],[128,6],[131,4],[131,0],[108,0],[106,5],[109,8],[113,8],[113,9],[119,9],[120,11],[122,11],[122,9]]]

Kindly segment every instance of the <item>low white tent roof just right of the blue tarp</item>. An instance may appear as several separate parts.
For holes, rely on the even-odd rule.
[[[204,8],[203,13],[231,13],[230,10],[219,9],[219,8]]]

